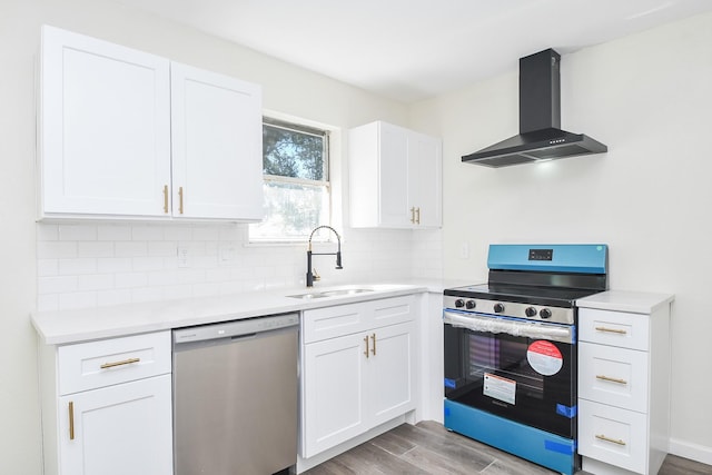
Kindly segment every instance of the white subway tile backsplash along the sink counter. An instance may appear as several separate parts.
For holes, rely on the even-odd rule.
[[[38,309],[304,286],[306,244],[246,245],[247,225],[109,222],[37,225]],[[188,250],[187,265],[178,248]],[[333,253],[336,243],[316,243]],[[347,230],[344,269],[317,256],[322,286],[442,275],[441,231]],[[437,275],[436,275],[437,274]]]

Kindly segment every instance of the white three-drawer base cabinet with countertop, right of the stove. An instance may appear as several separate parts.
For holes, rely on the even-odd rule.
[[[654,475],[670,444],[671,295],[577,300],[578,453],[597,475]]]

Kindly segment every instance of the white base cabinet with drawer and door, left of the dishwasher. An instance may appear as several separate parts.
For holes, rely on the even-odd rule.
[[[171,475],[170,331],[42,348],[46,475]]]

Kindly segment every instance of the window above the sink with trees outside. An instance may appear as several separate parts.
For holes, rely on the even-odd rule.
[[[304,241],[329,224],[328,150],[326,130],[263,119],[265,219],[251,241]]]

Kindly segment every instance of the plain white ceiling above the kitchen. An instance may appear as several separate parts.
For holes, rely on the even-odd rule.
[[[414,102],[712,10],[710,0],[115,0]]]

